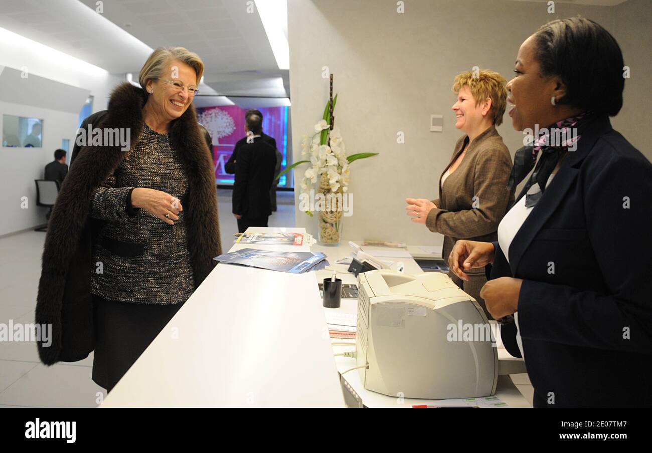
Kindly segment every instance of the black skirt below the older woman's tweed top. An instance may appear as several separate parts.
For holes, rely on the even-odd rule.
[[[93,381],[107,392],[183,306],[132,304],[93,296],[95,353]]]

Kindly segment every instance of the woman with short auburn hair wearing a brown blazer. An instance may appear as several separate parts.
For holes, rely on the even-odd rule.
[[[439,178],[439,198],[406,198],[413,222],[444,235],[442,256],[449,256],[458,239],[491,242],[497,240],[498,224],[514,201],[514,190],[505,190],[512,170],[512,158],[496,126],[503,122],[507,102],[507,80],[497,72],[481,70],[456,76],[452,91],[457,102],[455,127],[465,133],[455,145],[451,162]],[[467,271],[464,281],[449,272],[451,279],[481,304],[486,283],[484,270]]]

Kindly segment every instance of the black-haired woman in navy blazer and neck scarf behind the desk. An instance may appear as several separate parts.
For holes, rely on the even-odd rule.
[[[511,184],[534,171],[498,241],[458,241],[449,258],[460,278],[492,263],[482,297],[524,357],[535,407],[652,406],[652,164],[609,121],[622,70],[593,21],[556,20],[527,38],[509,115],[516,130],[552,133],[517,151]]]

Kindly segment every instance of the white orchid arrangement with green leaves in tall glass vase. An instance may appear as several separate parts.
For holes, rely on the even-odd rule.
[[[310,160],[300,160],[278,174],[277,179],[286,171],[301,164],[311,164],[306,169],[301,180],[300,199],[310,199],[306,203],[299,203],[299,209],[309,216],[312,211],[318,212],[319,242],[322,244],[336,245],[342,236],[342,215],[344,214],[344,197],[347,196],[350,170],[349,164],[354,160],[376,156],[378,153],[357,153],[346,155],[344,141],[340,129],[336,127],[333,112],[337,103],[337,95],[333,98],[333,74],[331,74],[331,90],[329,100],[324,108],[322,119],[315,124],[315,133],[303,136],[301,141],[301,155],[310,155]],[[308,149],[308,146],[310,149]],[[317,194],[314,195],[314,184],[318,184]],[[312,192],[313,196],[311,196]],[[349,194],[350,196],[350,194]],[[313,200],[318,203],[313,205]]]

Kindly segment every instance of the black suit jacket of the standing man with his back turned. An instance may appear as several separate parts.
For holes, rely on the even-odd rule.
[[[276,147],[263,137],[239,147],[233,183],[233,214],[261,218],[272,213],[269,189],[276,168]]]

